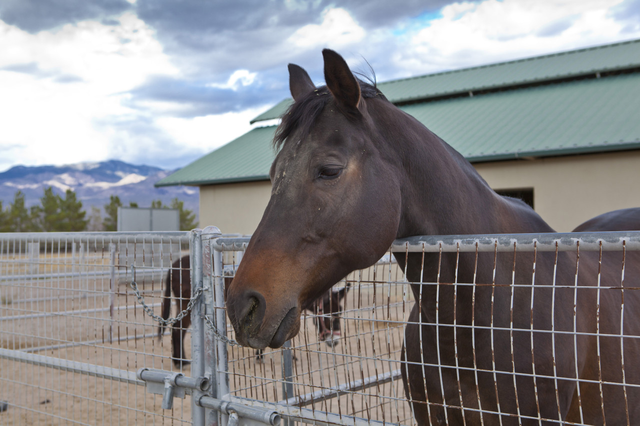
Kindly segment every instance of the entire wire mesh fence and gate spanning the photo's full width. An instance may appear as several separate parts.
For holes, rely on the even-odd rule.
[[[0,424],[640,421],[638,232],[396,241],[266,351],[227,324],[248,241],[1,234]]]

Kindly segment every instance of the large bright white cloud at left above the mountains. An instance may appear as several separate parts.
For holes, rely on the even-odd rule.
[[[154,31],[131,13],[120,26],[94,21],[32,35],[0,20],[0,170],[15,164],[102,161],[100,118],[131,113],[124,93],[151,74],[176,74]],[[16,65],[35,64],[35,73]],[[72,76],[59,83],[56,76]],[[6,146],[11,146],[10,156]]]

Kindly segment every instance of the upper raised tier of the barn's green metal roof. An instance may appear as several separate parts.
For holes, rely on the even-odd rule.
[[[378,88],[388,100],[401,104],[468,91],[495,90],[506,86],[543,83],[637,67],[640,67],[640,40],[631,40],[387,81],[378,83]],[[291,98],[283,100],[254,118],[252,123],[280,117],[291,102]]]

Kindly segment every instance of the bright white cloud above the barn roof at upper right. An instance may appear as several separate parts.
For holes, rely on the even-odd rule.
[[[618,3],[621,0],[452,3],[442,9],[442,18],[415,33],[395,59],[411,74],[425,74],[640,36],[621,37],[622,24],[607,16]]]

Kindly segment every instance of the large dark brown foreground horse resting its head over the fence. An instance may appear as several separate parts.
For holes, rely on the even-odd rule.
[[[522,201],[492,191],[374,83],[356,79],[339,54],[323,56],[320,88],[289,65],[294,103],[276,130],[271,198],[228,289],[236,338],[256,349],[294,337],[303,309],[394,239],[554,232]],[[580,423],[581,408],[585,423],[627,424],[622,386],[603,384],[600,403],[600,380],[621,383],[620,338],[604,336],[620,335],[621,292],[596,290],[597,262],[580,260],[574,347],[575,252],[536,253],[533,288],[534,253],[394,255],[417,301],[401,367],[417,423]],[[620,253],[603,262],[602,285],[619,287]],[[627,262],[625,286],[639,287],[639,269]],[[640,297],[624,296],[624,334],[638,336]],[[639,356],[640,340],[625,338],[627,384],[640,384]],[[640,424],[640,390],[627,386],[626,395],[629,421]]]

